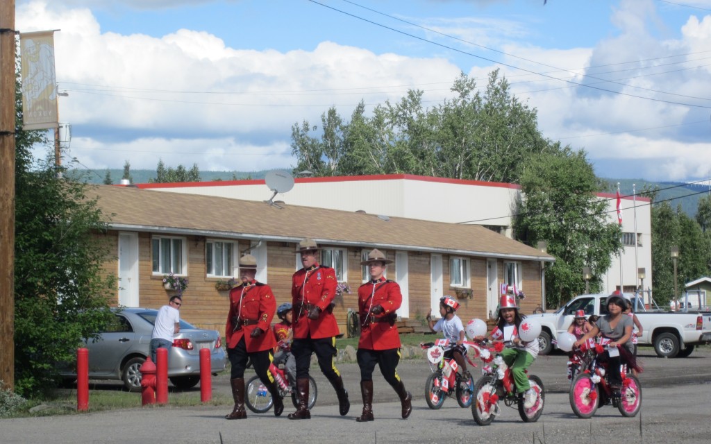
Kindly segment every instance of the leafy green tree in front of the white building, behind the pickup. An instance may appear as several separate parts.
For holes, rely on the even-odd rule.
[[[556,261],[547,266],[547,304],[559,306],[584,292],[584,266],[592,270],[592,286],[599,287],[611,256],[619,254],[621,232],[606,214],[606,202],[595,193],[604,186],[595,177],[584,151],[534,156],[523,167],[523,197],[514,217],[516,237],[529,245],[548,242]]]

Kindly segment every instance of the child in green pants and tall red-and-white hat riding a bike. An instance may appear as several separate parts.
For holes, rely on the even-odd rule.
[[[518,336],[518,329],[524,318],[525,315],[518,311],[513,292],[508,291],[501,295],[496,327],[491,330],[489,337],[493,341],[510,343],[513,346],[501,350],[501,357],[513,374],[516,391],[523,393],[523,407],[532,408],[538,396],[531,389],[525,371],[538,357],[538,340],[525,342]]]

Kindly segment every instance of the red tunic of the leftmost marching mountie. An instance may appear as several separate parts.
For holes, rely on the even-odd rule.
[[[242,337],[245,337],[247,353],[272,350],[277,345],[270,328],[276,310],[277,301],[272,288],[266,283],[252,281],[232,288],[230,313],[225,327],[227,347],[237,347]],[[260,327],[263,333],[259,337],[251,337],[256,327]]]

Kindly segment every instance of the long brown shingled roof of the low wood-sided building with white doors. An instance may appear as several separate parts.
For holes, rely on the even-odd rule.
[[[95,185],[87,192],[88,197],[94,195],[113,229],[282,242],[311,237],[319,244],[334,246],[554,260],[549,254],[479,225],[296,205],[279,209],[264,202],[114,185]]]

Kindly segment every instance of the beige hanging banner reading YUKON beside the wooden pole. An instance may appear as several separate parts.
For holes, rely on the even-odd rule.
[[[23,129],[57,128],[54,31],[20,33]]]

